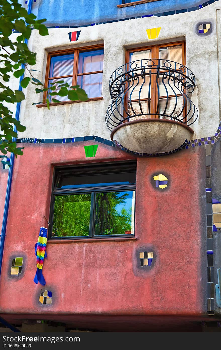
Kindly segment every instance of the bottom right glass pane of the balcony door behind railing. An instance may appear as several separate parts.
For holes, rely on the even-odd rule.
[[[161,98],[160,99],[160,114],[167,114],[167,116],[170,116],[172,114],[172,117],[178,117],[179,114],[181,113],[183,109],[183,97],[177,97],[177,104],[176,104],[176,98],[175,97],[170,97],[168,99],[168,105],[167,109],[165,111],[166,107],[166,98]],[[174,111],[175,108],[175,111]],[[173,112],[174,111],[174,112]],[[170,117],[160,117],[160,119],[168,119]],[[178,117],[178,119],[183,119],[183,113]]]

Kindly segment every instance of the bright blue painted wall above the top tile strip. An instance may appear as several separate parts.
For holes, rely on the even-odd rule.
[[[118,8],[121,0],[36,0],[33,12],[47,26],[78,26],[197,6],[200,0],[159,0]]]

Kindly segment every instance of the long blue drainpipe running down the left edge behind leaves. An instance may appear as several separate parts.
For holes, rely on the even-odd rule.
[[[32,7],[32,0],[28,0],[28,14],[31,13],[31,7]],[[28,40],[24,40],[25,44],[28,43]],[[21,65],[21,68],[24,68],[24,65]],[[20,77],[19,80],[19,91],[22,91],[21,87],[21,81],[24,78],[24,74]],[[20,115],[20,108],[21,108],[21,102],[18,102],[16,105],[16,111],[15,111],[15,119],[19,120]],[[17,128],[14,125],[14,132],[17,132]],[[13,142],[16,141],[16,138],[13,137]],[[13,167],[14,167],[14,159],[15,155],[14,153],[11,153],[10,156],[10,167],[8,170],[8,182],[7,182],[7,188],[6,188],[6,196],[5,196],[5,207],[3,212],[3,219],[2,219],[2,228],[1,228],[1,239],[0,239],[0,276],[1,276],[1,266],[2,266],[2,258],[3,258],[3,250],[4,250],[4,244],[5,244],[5,232],[6,232],[6,226],[7,226],[7,219],[8,219],[8,207],[9,207],[9,200],[10,200],[10,193],[11,193],[11,187],[12,187],[12,175],[13,175]]]

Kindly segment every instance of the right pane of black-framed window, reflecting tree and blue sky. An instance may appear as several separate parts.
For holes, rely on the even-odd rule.
[[[95,235],[134,233],[135,191],[96,194]]]

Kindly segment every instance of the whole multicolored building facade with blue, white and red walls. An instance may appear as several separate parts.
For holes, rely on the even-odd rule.
[[[2,317],[113,331],[218,322],[221,2],[37,0],[32,12],[49,28],[28,42],[35,77],[89,99],[55,96],[48,110],[24,91]],[[40,227],[45,285],[33,281]]]

